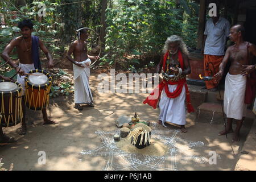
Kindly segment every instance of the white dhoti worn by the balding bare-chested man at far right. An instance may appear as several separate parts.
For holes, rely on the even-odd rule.
[[[224,112],[227,118],[242,119],[246,114],[246,77],[226,75],[224,92]]]

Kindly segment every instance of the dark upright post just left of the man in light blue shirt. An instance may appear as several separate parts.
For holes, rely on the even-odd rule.
[[[198,27],[198,40],[196,49],[201,49],[203,47],[204,41],[204,28],[205,28],[205,0],[200,0],[200,15],[199,15],[199,27]]]

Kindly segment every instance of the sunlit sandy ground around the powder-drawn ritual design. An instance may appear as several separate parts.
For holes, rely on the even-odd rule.
[[[99,94],[96,92],[99,82],[96,76],[91,76],[90,85],[94,90],[96,105],[94,108],[84,107],[82,111],[77,111],[73,109],[73,95],[61,96],[50,101],[51,118],[59,124],[43,126],[42,113],[27,110],[27,135],[20,136],[16,133],[20,124],[4,129],[7,135],[18,139],[14,144],[0,146],[0,158],[2,163],[5,163],[4,167],[8,168],[13,163],[14,170],[233,170],[236,166],[243,142],[249,133],[250,123],[242,127],[241,141],[232,144],[231,147],[232,134],[228,135],[228,139],[225,136],[218,136],[218,132],[224,129],[223,125],[197,122],[195,114],[187,114],[188,133],[180,133],[176,126],[168,125],[164,128],[154,123],[158,119],[159,109],[154,110],[142,104],[148,94]],[[115,119],[123,114],[133,116],[135,111],[142,119],[149,120],[155,131],[162,133],[163,137],[172,137],[175,133],[175,142],[170,142],[168,146],[170,151],[172,147],[178,151],[175,156],[166,155],[157,159],[154,158],[154,154],[153,157],[143,156],[148,163],[152,159],[152,167],[151,164],[131,163],[131,156],[138,157],[137,161],[142,161],[138,155],[114,156],[106,152],[113,151],[106,143],[105,146],[104,142],[102,144],[102,139],[104,141],[106,135],[99,135],[96,131],[109,132],[111,138],[111,133],[118,131]],[[189,142],[203,144],[189,148]],[[91,152],[90,155],[81,155],[81,151],[94,150],[95,153],[95,149],[105,153],[96,152],[97,155],[93,155]],[[46,152],[46,164],[38,163],[39,151]],[[208,163],[209,151],[216,152],[217,164]],[[118,156],[125,160],[126,166],[127,163],[130,163],[130,166],[128,164],[129,167],[122,168],[125,164],[120,163],[120,160],[120,164],[117,165]]]

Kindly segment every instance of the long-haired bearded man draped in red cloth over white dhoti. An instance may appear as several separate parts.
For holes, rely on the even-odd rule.
[[[158,70],[162,70],[163,81],[144,100],[156,109],[159,101],[159,124],[164,127],[164,122],[180,125],[181,132],[186,133],[186,105],[188,112],[193,112],[191,105],[186,75],[191,73],[188,61],[188,50],[180,36],[172,35],[167,38],[163,55],[161,56]]]

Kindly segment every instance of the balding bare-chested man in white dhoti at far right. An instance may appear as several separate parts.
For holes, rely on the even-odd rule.
[[[233,142],[240,140],[240,129],[243,123],[243,117],[245,117],[245,88],[246,88],[246,76],[249,72],[253,71],[251,67],[248,67],[251,56],[256,56],[256,47],[254,44],[245,42],[245,28],[240,24],[233,26],[230,29],[229,38],[234,42],[234,46],[230,46],[225,53],[224,59],[220,64],[220,71],[214,75],[216,81],[220,81],[224,75],[224,68],[228,61],[231,61],[229,73],[225,80],[225,92],[224,92],[224,111],[228,118],[226,130],[221,131],[219,135],[225,135],[226,133],[232,133],[232,121],[237,121],[237,127],[233,134]],[[246,65],[246,67],[245,67]],[[249,69],[245,69],[249,68]]]

